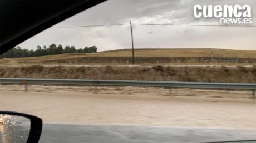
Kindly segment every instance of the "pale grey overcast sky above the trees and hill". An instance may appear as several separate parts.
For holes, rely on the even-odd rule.
[[[255,0],[109,0],[66,19],[53,27],[146,23],[219,25],[219,19],[193,15],[195,4],[249,4],[256,21]],[[252,25],[256,25],[253,24]],[[135,48],[225,48],[256,50],[256,27],[189,27],[133,25]],[[131,48],[129,25],[111,27],[50,28],[19,44],[36,49],[52,43],[96,45],[99,51]]]

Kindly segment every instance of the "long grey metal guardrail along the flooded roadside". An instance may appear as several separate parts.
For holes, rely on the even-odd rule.
[[[256,84],[248,83],[195,83],[178,81],[141,81],[141,80],[83,80],[83,79],[29,79],[29,78],[0,78],[1,84],[24,84],[27,91],[28,84],[55,85],[93,85],[97,86],[149,86],[163,88],[198,88],[198,89],[245,89],[253,91],[255,98]]]

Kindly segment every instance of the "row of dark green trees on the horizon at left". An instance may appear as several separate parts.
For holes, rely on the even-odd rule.
[[[97,53],[97,47],[92,46],[76,49],[75,46],[66,46],[65,48],[63,48],[61,44],[51,44],[49,45],[49,47],[46,47],[46,45],[44,45],[43,47],[38,45],[36,50],[29,50],[22,49],[18,46],[0,55],[0,58],[37,57],[43,55],[56,55],[64,53]]]

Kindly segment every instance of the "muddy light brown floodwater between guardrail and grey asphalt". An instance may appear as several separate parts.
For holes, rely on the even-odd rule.
[[[0,110],[39,116],[45,123],[256,129],[251,91],[6,85]]]

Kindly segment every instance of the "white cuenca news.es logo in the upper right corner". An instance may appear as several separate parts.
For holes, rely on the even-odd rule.
[[[252,8],[249,5],[195,5],[195,18],[220,18],[221,24],[252,24]]]

